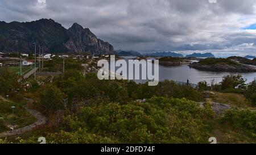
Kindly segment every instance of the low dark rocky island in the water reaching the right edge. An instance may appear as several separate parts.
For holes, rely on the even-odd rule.
[[[189,64],[189,67],[212,72],[256,72],[256,66],[242,64],[231,58],[205,58]]]

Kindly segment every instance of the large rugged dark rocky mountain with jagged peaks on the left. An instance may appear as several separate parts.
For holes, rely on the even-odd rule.
[[[67,30],[52,19],[26,23],[0,22],[1,52],[32,53],[34,42],[51,53],[114,53],[112,45],[97,39],[89,28],[83,28],[77,23]]]

